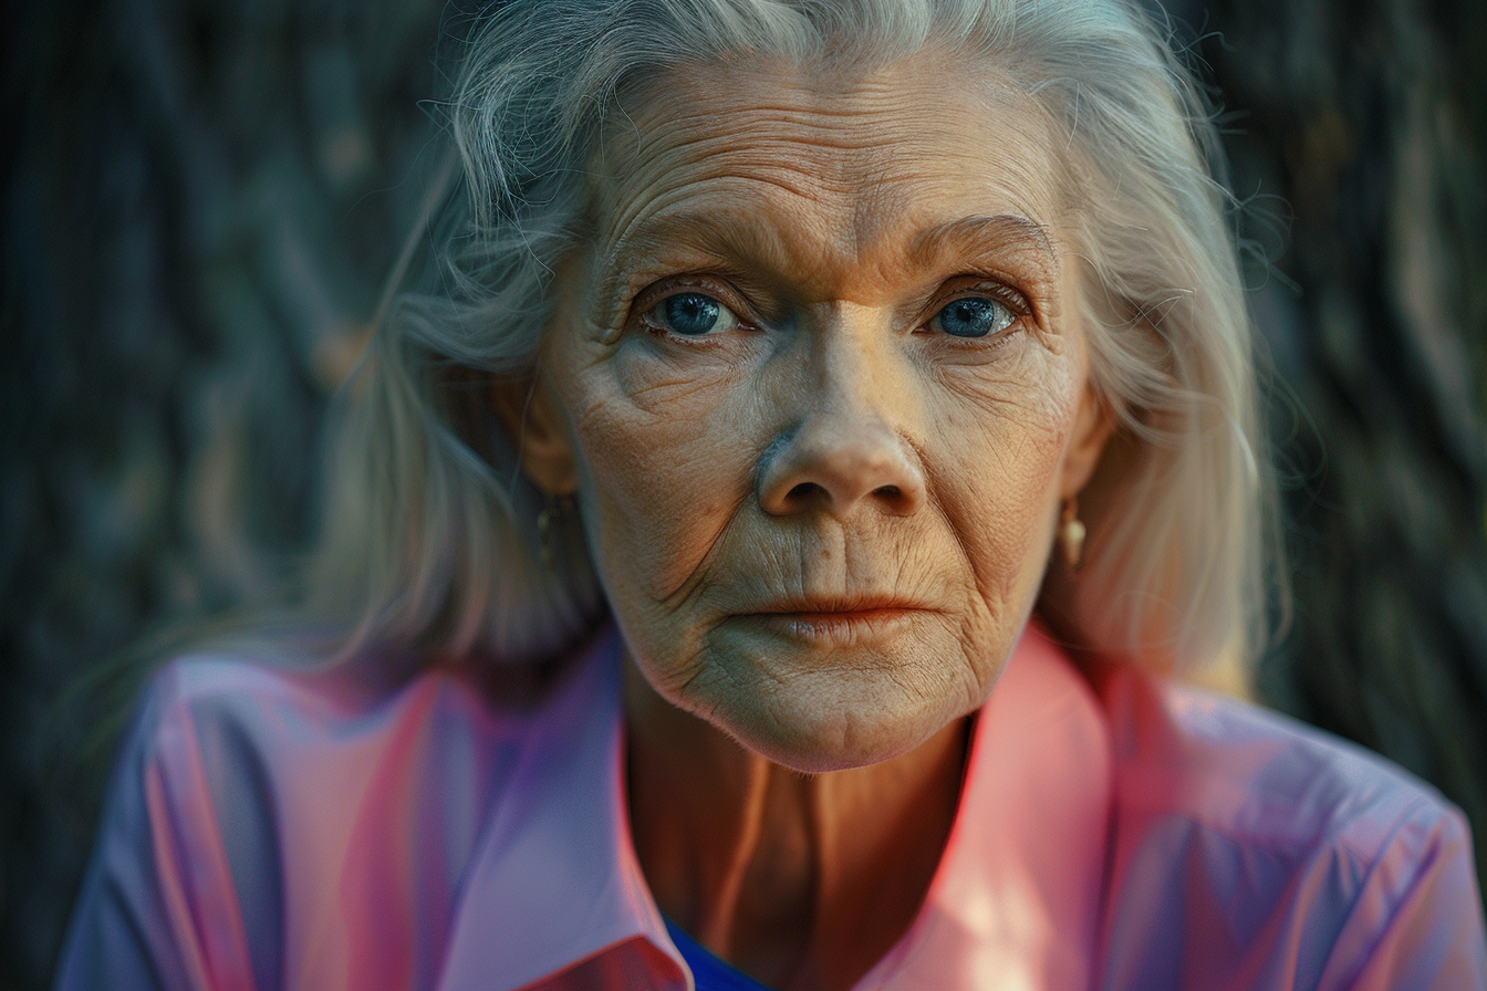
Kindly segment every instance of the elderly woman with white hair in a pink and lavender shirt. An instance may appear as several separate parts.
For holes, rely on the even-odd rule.
[[[1456,810],[1173,680],[1265,467],[1136,4],[517,0],[451,134],[314,620],[155,679],[59,988],[1484,987]]]

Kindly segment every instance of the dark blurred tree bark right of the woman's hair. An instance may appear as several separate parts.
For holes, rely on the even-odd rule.
[[[1294,614],[1259,694],[1435,783],[1472,820],[1483,877],[1487,4],[1169,9],[1228,111],[1280,386]]]

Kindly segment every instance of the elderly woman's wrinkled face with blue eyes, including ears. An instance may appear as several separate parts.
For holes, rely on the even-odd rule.
[[[525,464],[633,663],[781,764],[986,698],[1103,443],[1026,97],[923,52],[674,74],[605,132]]]

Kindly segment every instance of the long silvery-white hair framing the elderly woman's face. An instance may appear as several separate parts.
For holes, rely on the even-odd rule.
[[[333,434],[306,581],[348,649],[515,661],[604,614],[571,514],[541,560],[541,496],[486,397],[532,373],[553,272],[583,239],[584,165],[625,95],[724,56],[886,64],[929,43],[1025,89],[1069,149],[1065,236],[1118,429],[1084,571],[1051,569],[1041,608],[1094,651],[1248,655],[1268,547],[1252,334],[1206,104],[1133,0],[513,0],[479,18],[448,103],[464,195]]]

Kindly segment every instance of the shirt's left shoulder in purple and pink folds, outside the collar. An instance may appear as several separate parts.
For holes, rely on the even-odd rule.
[[[58,987],[375,987],[391,966],[431,985],[421,969],[550,706],[494,706],[452,669],[370,685],[269,657],[156,672]]]

